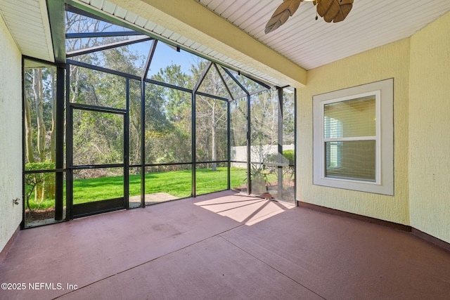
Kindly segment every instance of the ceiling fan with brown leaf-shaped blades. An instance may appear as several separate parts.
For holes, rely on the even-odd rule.
[[[269,22],[267,22],[264,32],[268,34],[283,25],[297,11],[300,2],[303,1],[312,1],[316,6],[317,13],[325,22],[344,20],[353,6],[353,0],[283,0],[283,3],[276,8]]]

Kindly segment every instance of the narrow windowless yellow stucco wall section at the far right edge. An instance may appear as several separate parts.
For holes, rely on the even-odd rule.
[[[450,242],[450,13],[411,37],[411,226]]]

